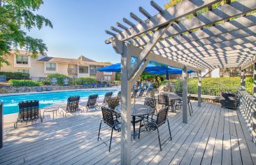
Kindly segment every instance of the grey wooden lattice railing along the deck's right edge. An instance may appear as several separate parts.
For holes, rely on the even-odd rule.
[[[247,124],[250,134],[253,136],[253,141],[256,142],[256,103],[253,96],[246,91],[238,89],[239,94],[239,110]]]

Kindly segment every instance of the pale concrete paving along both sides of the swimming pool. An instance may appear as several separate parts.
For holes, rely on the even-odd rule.
[[[43,94],[43,93],[52,93],[52,92],[68,92],[68,91],[81,91],[81,90],[85,90],[85,91],[90,91],[90,90],[116,90],[117,92],[120,90],[120,87],[107,87],[107,88],[90,88],[90,89],[68,89],[68,90],[57,90],[57,91],[44,91],[44,92],[23,92],[23,93],[10,93],[10,94],[0,94],[0,96],[17,96],[17,95],[22,95],[22,94]],[[114,94],[115,96],[116,94]],[[99,96],[99,102],[103,101],[104,96]],[[80,106],[86,106],[85,104],[87,103],[87,96],[86,97],[81,97],[80,98]],[[46,106],[45,108],[58,108],[58,107],[65,107],[66,106],[66,101],[61,101],[61,102],[57,102],[54,103],[50,106]],[[41,115],[43,117],[43,110],[45,108],[41,108]],[[71,115],[71,114],[69,114]],[[18,113],[11,113],[11,114],[7,114],[7,115],[3,115],[3,129],[12,129],[13,128],[13,124],[16,122],[18,117]],[[62,117],[62,115],[57,114],[57,116],[55,116],[55,118],[59,118]],[[43,121],[48,121],[48,120],[52,120],[52,113],[45,113],[45,118]],[[40,122],[40,120],[37,120],[36,122]],[[32,124],[36,123],[36,122],[32,122]],[[27,124],[31,124],[31,122],[27,123]],[[18,124],[18,126],[23,126],[26,124]]]

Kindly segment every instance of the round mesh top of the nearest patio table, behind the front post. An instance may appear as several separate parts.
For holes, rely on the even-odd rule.
[[[115,107],[116,113],[121,113],[121,106]],[[148,115],[153,112],[153,109],[150,106],[144,106],[141,104],[131,105],[131,116],[141,116]]]

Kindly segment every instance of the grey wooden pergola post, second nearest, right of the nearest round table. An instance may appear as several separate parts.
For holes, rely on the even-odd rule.
[[[187,66],[183,69],[183,123],[187,124]]]

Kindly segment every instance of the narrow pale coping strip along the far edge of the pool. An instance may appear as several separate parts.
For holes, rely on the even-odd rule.
[[[120,89],[120,87],[101,87],[101,88],[88,88],[88,89],[64,89],[64,90],[55,90],[55,91],[42,91],[42,92],[19,92],[19,93],[8,93],[8,94],[0,94],[1,96],[17,96],[22,94],[45,94],[45,93],[54,93],[54,92],[69,92],[69,91],[97,91],[97,90],[113,90],[113,89]]]

